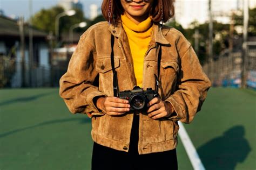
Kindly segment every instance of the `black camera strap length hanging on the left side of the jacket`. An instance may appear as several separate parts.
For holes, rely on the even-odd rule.
[[[114,69],[114,36],[111,34],[111,54],[110,54],[110,59],[111,59],[111,67],[112,67],[112,72],[113,72],[113,95],[114,97],[118,97],[119,94],[119,88],[118,88],[118,81],[117,81],[117,72]]]

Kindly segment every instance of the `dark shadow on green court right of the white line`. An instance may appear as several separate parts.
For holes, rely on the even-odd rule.
[[[244,162],[251,152],[244,136],[244,126],[238,125],[200,146],[197,151],[205,169],[235,169],[238,163]]]

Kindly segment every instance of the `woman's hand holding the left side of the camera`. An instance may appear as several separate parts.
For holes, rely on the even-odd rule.
[[[110,116],[123,115],[130,111],[129,101],[118,97],[99,97],[96,105],[97,108]]]

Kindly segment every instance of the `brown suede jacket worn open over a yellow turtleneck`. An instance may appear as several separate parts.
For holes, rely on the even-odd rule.
[[[92,139],[107,147],[129,151],[133,113],[109,116],[100,112],[93,98],[113,96],[111,69],[111,33],[114,42],[114,67],[120,91],[136,85],[129,42],[122,25],[107,22],[93,25],[81,37],[60,79],[59,94],[73,113],[92,118]],[[153,24],[152,40],[144,58],[143,89],[155,87],[157,75],[156,42],[162,47],[159,95],[170,102],[175,114],[169,118],[151,119],[139,116],[139,154],[172,150],[177,146],[177,121],[190,123],[205,101],[211,82],[203,72],[196,53],[183,34],[174,28]],[[97,86],[95,81],[99,81]]]

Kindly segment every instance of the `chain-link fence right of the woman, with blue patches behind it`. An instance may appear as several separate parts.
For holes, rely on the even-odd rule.
[[[242,52],[223,52],[218,60],[206,63],[203,68],[213,86],[241,86]],[[256,49],[248,47],[245,59],[247,87],[256,88]]]

